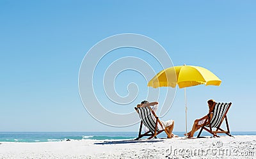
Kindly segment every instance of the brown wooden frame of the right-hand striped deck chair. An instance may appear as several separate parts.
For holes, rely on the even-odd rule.
[[[198,138],[200,137],[200,135],[201,135],[203,129],[206,130],[207,132],[211,133],[211,134],[213,135],[213,137],[220,137],[220,136],[217,135],[217,133],[226,133],[228,136],[232,137],[232,135],[230,134],[230,130],[229,130],[229,126],[228,126],[228,119],[227,119],[227,112],[228,112],[228,110],[230,109],[231,104],[232,104],[231,102],[228,103],[228,108],[227,108],[225,114],[223,115],[220,124],[219,124],[218,126],[216,126],[216,130],[215,130],[215,131],[212,131],[212,126],[211,126],[211,112],[212,112],[212,110],[214,109],[214,107],[215,107],[215,105],[216,105],[216,103],[215,103],[214,107],[213,107],[211,110],[209,110],[209,114],[207,114],[208,117],[207,117],[207,119],[205,120],[204,125],[202,126],[202,128],[201,128],[200,132],[198,133],[197,137],[198,137]],[[225,130],[223,130],[222,128],[220,128],[220,126],[221,126],[221,124],[222,124],[222,122],[223,122],[224,119],[225,119],[225,122],[226,122],[227,131],[225,131]],[[209,122],[208,122],[208,121],[209,121]],[[209,123],[209,124],[208,124],[208,125],[209,125],[209,128],[205,128],[205,126],[207,126],[207,123]]]

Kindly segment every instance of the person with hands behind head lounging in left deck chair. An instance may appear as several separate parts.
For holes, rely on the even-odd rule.
[[[154,112],[156,112],[157,107],[158,107],[158,102],[148,102],[147,100],[144,100],[143,102],[141,102],[140,104],[137,105],[137,108],[139,107],[150,107],[150,106],[154,106],[152,107],[152,110],[154,110]],[[138,110],[137,110],[138,111]],[[156,119],[156,117],[153,117],[153,119]],[[173,127],[174,127],[174,121],[173,120],[168,120],[168,121],[161,121],[163,127],[168,131],[168,133],[170,134],[170,137],[168,138],[172,138],[172,137],[178,137],[177,135],[174,135],[172,133]],[[148,132],[148,128],[145,127],[145,132]],[[161,128],[161,126],[158,126],[158,128],[160,130],[163,130],[163,128]]]

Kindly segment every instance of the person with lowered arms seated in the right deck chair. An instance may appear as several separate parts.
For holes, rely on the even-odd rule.
[[[208,107],[209,107],[209,112],[211,112],[211,114],[210,114],[210,120],[211,120],[212,110],[213,110],[212,105],[215,103],[215,101],[208,100],[207,103],[208,103]],[[188,132],[188,134],[187,134],[189,138],[193,137],[194,133],[204,125],[204,122],[207,118],[208,118],[208,114],[204,117],[201,117],[200,119],[195,120],[192,130],[190,132]],[[207,121],[207,124],[209,124],[209,121]],[[184,135],[186,136],[186,133]]]

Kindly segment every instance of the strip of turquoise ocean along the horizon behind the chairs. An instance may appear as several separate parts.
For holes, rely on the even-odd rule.
[[[173,132],[184,137],[184,132]],[[195,133],[194,136],[197,135]],[[231,132],[232,135],[256,135],[256,132]],[[225,135],[225,134],[223,134]],[[202,132],[202,136],[211,136],[208,132]],[[58,142],[62,140],[115,140],[135,139],[138,132],[0,132],[0,142]],[[160,133],[157,137],[166,137]],[[146,138],[146,137],[145,137]]]

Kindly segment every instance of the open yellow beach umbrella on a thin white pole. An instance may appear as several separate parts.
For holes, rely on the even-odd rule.
[[[221,80],[206,68],[200,66],[173,66],[157,73],[153,79],[148,82],[150,87],[175,87],[184,88],[185,93],[185,111],[186,111],[186,133],[187,133],[187,102],[186,87],[197,86],[200,84],[220,86]]]

